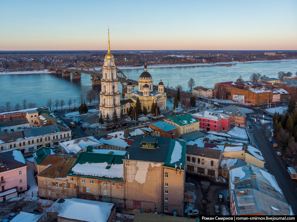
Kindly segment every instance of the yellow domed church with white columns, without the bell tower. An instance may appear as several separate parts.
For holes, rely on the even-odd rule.
[[[127,93],[125,93],[126,98],[131,98],[133,102],[136,103],[137,98],[139,98],[142,106],[151,111],[151,105],[153,101],[158,104],[160,110],[166,109],[166,93],[164,92],[164,84],[161,81],[158,84],[158,91],[153,90],[153,78],[151,74],[147,71],[147,66],[144,66],[144,72],[139,76],[138,79],[138,91],[133,91],[133,84],[129,82],[127,84]]]

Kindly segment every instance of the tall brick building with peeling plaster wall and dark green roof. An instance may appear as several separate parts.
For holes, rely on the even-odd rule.
[[[123,158],[125,208],[182,215],[185,152],[184,141],[138,136]]]

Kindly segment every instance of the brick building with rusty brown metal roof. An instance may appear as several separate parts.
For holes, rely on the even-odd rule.
[[[69,197],[66,173],[76,161],[76,155],[47,155],[38,164],[38,195],[46,199],[67,199]]]

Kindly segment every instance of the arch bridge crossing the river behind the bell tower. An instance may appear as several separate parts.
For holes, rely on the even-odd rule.
[[[72,79],[80,79],[82,73],[89,74],[91,76],[92,85],[101,84],[101,79],[103,76],[102,69],[96,71],[94,66],[90,64],[80,64],[77,68],[66,68],[66,67],[56,67],[56,66],[45,66],[50,72],[55,72],[55,74],[62,74],[63,77],[72,76]],[[133,79],[128,79],[125,74],[117,68],[116,78],[119,80],[124,89],[127,89],[127,84],[129,81],[132,82],[133,86],[138,86],[138,81]]]

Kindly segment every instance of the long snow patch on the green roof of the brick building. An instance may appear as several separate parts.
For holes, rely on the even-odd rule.
[[[107,162],[104,163],[83,163],[76,164],[72,171],[80,175],[93,175],[99,177],[123,177],[123,164],[111,164],[109,169],[106,169]]]

